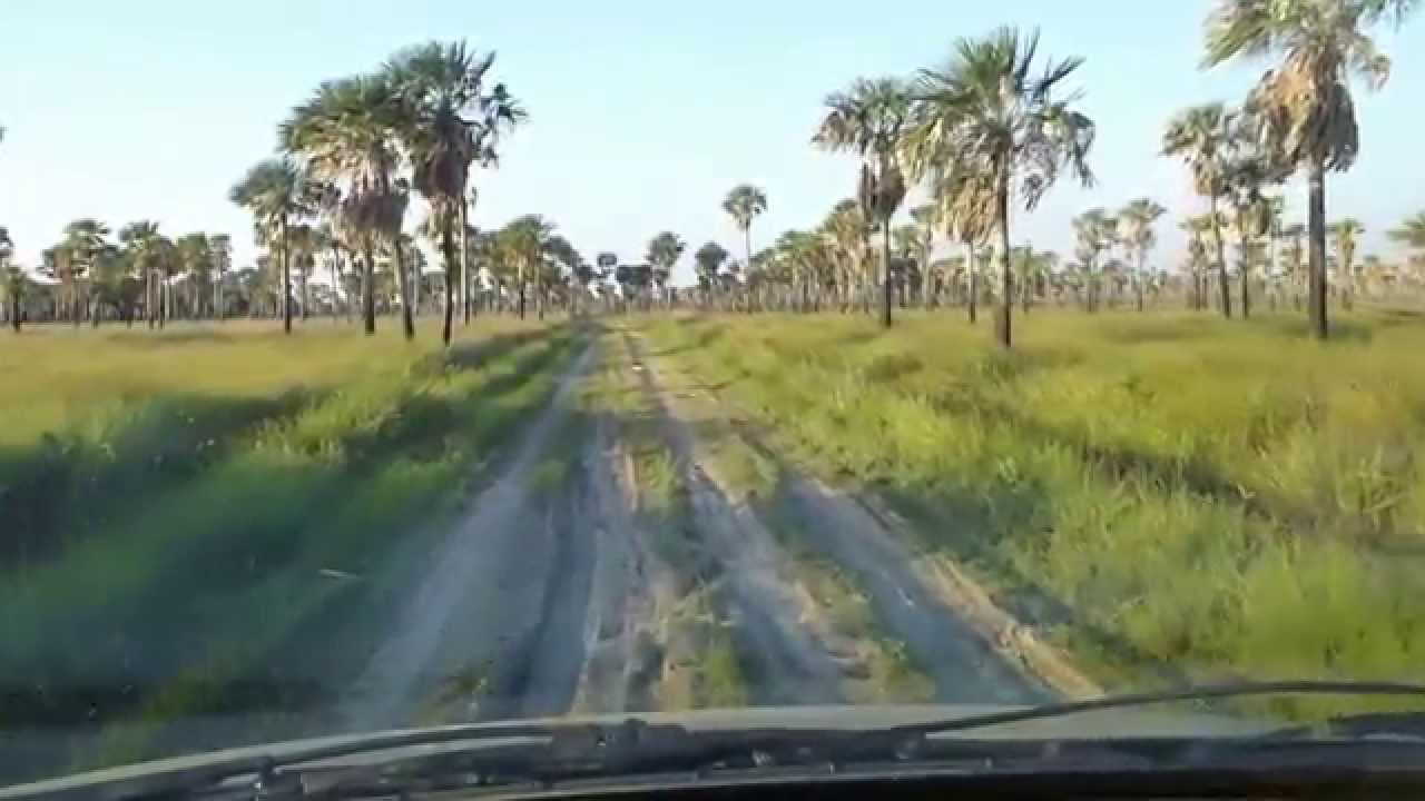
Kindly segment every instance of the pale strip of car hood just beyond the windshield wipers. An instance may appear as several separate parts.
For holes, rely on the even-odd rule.
[[[915,725],[933,721],[956,720],[983,714],[1020,710],[1026,707],[992,706],[992,704],[928,704],[928,706],[858,706],[858,707],[762,707],[738,710],[701,710],[687,713],[647,713],[647,714],[618,714],[618,715],[590,715],[590,717],[561,717],[542,720],[496,721],[482,725],[482,730],[499,731],[509,727],[529,725],[569,725],[569,724],[616,724],[628,718],[637,718],[648,724],[678,724],[691,731],[738,731],[745,728],[844,728],[848,731],[861,728],[884,728],[892,725]],[[972,737],[976,740],[1102,740],[1127,737],[1243,737],[1263,734],[1273,728],[1264,721],[1234,718],[1226,715],[1184,714],[1164,710],[1100,710],[1062,715],[1054,718],[1029,720],[993,727],[978,727],[972,731],[952,733],[945,737]],[[0,800],[20,798],[33,794],[48,794],[60,791],[83,790],[88,785],[111,781],[128,780],[142,775],[188,771],[204,767],[215,767],[225,763],[256,761],[271,757],[276,761],[301,760],[304,754],[321,751],[331,747],[359,744],[363,740],[375,740],[402,733],[413,731],[443,731],[465,730],[470,727],[430,727],[409,730],[365,731],[359,734],[339,734],[331,737],[315,737],[308,740],[291,740],[282,743],[266,743],[261,745],[224,748],[133,765],[105,768],[71,774],[61,778],[20,784],[0,788]],[[519,737],[512,737],[517,740]],[[504,743],[500,738],[484,738],[482,745],[497,745]],[[398,748],[382,748],[372,754],[362,754],[341,760],[341,763],[362,763],[373,760],[388,760],[395,757],[413,757],[423,753],[447,751],[453,747],[465,747],[463,743],[402,745]]]

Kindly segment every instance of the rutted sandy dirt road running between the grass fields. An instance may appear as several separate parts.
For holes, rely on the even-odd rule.
[[[640,436],[671,455],[683,519],[641,507],[648,477],[630,453],[648,442],[630,439],[627,410],[587,403],[594,375],[634,398]],[[690,396],[687,376],[650,362],[636,339],[598,336],[429,554],[345,698],[346,725],[841,703],[865,671],[854,654],[886,643],[903,643],[939,700],[1046,697],[926,586],[872,515],[787,470],[781,512],[854,580],[881,627],[875,643],[852,641],[865,631],[839,627],[834,599],[805,583],[805,553],[788,550],[718,475],[705,409],[694,413]],[[670,536],[685,557],[670,556]],[[735,664],[712,676],[720,637]]]

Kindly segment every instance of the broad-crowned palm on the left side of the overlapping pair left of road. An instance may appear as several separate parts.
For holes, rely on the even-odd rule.
[[[326,205],[361,238],[368,335],[376,332],[375,251],[378,244],[400,235],[408,202],[396,180],[400,121],[400,95],[392,81],[386,76],[355,76],[322,84],[278,128],[282,147],[305,160],[311,178],[338,188],[339,194],[325,198]],[[409,295],[403,275],[399,284],[402,295]],[[402,322],[406,339],[412,339],[409,305]]]

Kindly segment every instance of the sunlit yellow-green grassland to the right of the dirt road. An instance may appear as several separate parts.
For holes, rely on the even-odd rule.
[[[889,502],[1110,690],[1425,666],[1425,319],[1033,312],[638,324],[787,458]],[[1344,703],[1362,708],[1361,700]],[[1331,701],[1274,704],[1288,715]]]

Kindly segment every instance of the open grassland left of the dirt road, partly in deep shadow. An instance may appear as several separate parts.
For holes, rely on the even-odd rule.
[[[400,566],[547,403],[581,338],[482,322],[445,352],[423,334],[7,341],[0,727],[124,721],[81,764],[154,753],[184,717],[321,727],[314,710],[380,631]]]

